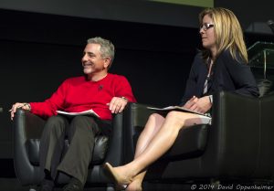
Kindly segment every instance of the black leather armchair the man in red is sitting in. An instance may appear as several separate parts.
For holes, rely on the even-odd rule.
[[[97,136],[90,164],[87,185],[105,186],[106,190],[114,190],[111,182],[104,174],[102,166],[105,161],[114,165],[122,163],[122,113],[113,117],[111,137]],[[45,120],[29,111],[18,110],[14,118],[14,166],[16,176],[22,186],[38,185],[43,178],[39,168],[39,139]],[[65,141],[65,144],[68,144]],[[67,145],[68,146],[68,145]],[[68,176],[58,175],[59,184],[68,182]]]

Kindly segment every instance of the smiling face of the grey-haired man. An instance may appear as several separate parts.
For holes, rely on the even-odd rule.
[[[84,74],[100,73],[107,69],[109,64],[110,58],[101,58],[99,44],[87,44],[82,57]]]

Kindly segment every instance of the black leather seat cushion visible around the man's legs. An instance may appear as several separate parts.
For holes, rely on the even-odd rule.
[[[95,145],[91,164],[100,164],[103,162],[108,150],[109,137],[99,135],[95,137]],[[29,139],[26,141],[26,150],[31,164],[39,165],[39,145],[40,139]],[[68,140],[65,140],[64,152],[68,150]]]

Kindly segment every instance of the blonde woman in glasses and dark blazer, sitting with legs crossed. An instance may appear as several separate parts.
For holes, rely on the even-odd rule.
[[[214,104],[212,94],[220,90],[258,97],[237,17],[226,8],[206,8],[199,15],[199,23],[203,49],[195,56],[182,107],[208,112]],[[107,163],[105,169],[117,187],[142,190],[147,167],[171,148],[179,131],[207,122],[195,113],[170,111],[165,117],[153,113],[138,139],[134,160],[117,167]]]

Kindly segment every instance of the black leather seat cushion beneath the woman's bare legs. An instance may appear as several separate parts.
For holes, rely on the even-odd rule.
[[[182,129],[171,149],[163,155],[163,159],[182,160],[203,154],[207,140],[209,125],[201,124]]]

